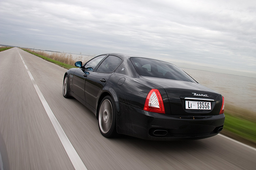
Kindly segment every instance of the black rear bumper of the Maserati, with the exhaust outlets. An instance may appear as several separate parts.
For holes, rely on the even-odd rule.
[[[181,116],[116,103],[117,133],[148,140],[203,139],[217,135],[225,115]]]

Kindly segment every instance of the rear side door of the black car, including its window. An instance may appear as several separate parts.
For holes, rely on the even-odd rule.
[[[123,60],[118,56],[109,55],[96,71],[91,72],[87,76],[84,90],[85,100],[93,108],[96,109],[101,90],[122,61]]]

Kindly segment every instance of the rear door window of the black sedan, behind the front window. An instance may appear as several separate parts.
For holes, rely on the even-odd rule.
[[[99,66],[97,69],[97,72],[113,72],[116,70],[116,68],[120,65],[122,62],[122,59],[114,56],[114,55],[109,55]]]

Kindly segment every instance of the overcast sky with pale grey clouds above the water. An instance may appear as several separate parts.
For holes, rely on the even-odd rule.
[[[0,44],[256,75],[256,1],[1,1]]]

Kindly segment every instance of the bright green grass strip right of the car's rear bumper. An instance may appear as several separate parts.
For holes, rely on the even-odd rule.
[[[256,144],[256,122],[241,117],[230,115],[225,112],[223,130],[232,132],[238,137],[245,138]]]

